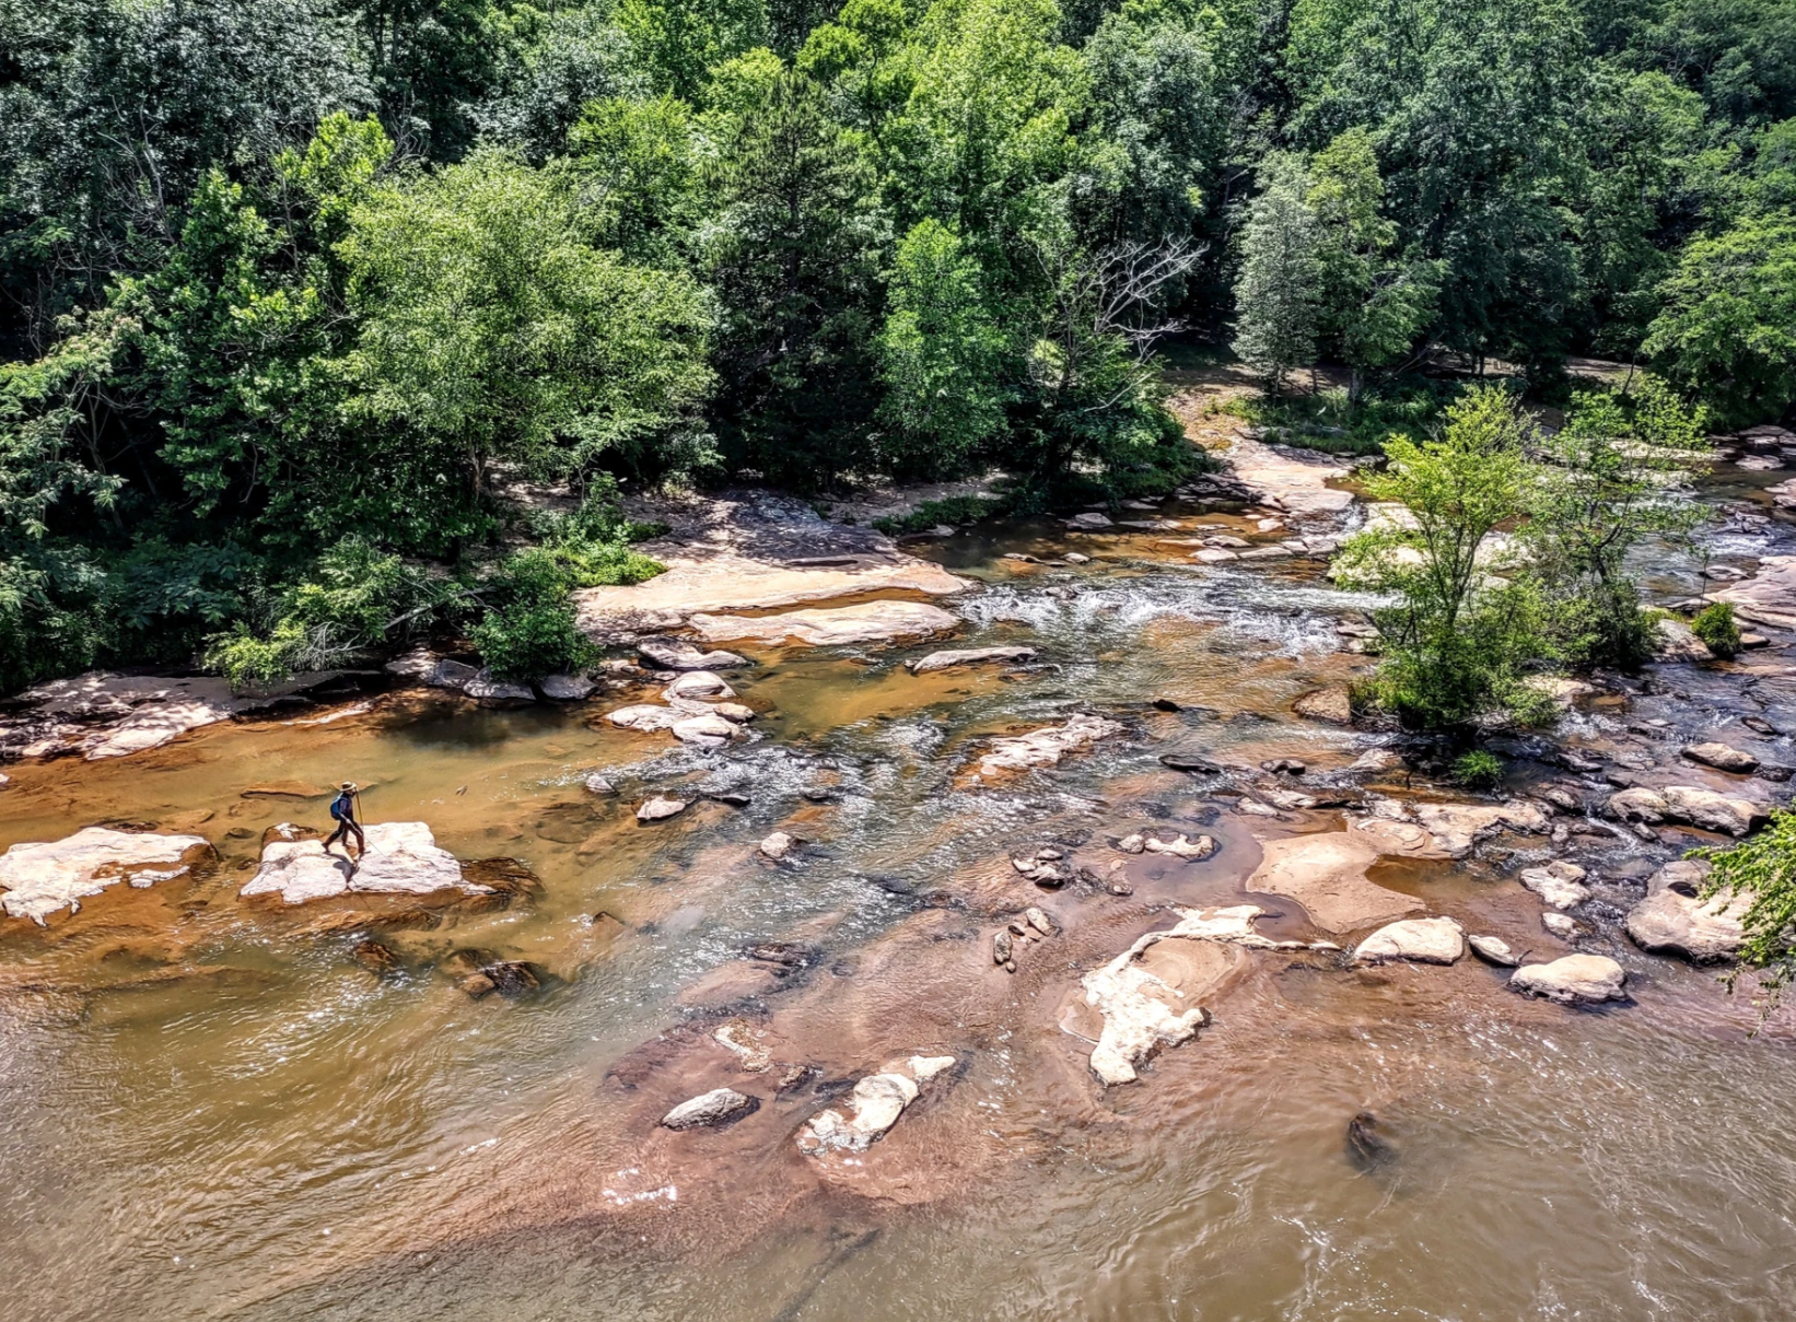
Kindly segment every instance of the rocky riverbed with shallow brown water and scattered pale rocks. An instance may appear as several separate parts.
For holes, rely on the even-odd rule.
[[[657,512],[566,684],[408,657],[92,760],[192,684],[34,697],[0,1230],[75,1266],[23,1315],[1769,1317],[1789,1042],[1679,862],[1791,792],[1769,474],[1649,580],[1764,647],[1563,686],[1471,796],[1340,701],[1351,465],[1185,415],[1232,467],[1149,508]]]

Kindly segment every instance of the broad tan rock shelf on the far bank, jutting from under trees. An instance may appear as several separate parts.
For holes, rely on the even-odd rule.
[[[726,490],[643,510],[674,524],[638,550],[666,573],[630,587],[573,595],[580,627],[596,639],[681,629],[693,614],[778,611],[864,593],[946,596],[968,582],[905,555],[864,524],[817,516],[805,501],[762,490]]]

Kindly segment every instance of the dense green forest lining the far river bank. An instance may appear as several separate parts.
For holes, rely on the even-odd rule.
[[[0,0],[0,688],[542,674],[620,489],[1167,490],[1169,338],[1789,417],[1796,4]]]

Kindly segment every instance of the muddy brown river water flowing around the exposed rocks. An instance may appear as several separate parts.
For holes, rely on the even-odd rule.
[[[1255,832],[1160,753],[1338,767],[1363,738],[1291,720],[1360,663],[1363,605],[1291,566],[1191,569],[1146,537],[1049,528],[939,548],[982,580],[968,645],[1026,672],[911,677],[909,652],[763,654],[738,677],[758,740],[695,753],[578,709],[393,695],[327,724],[201,731],[111,763],[14,769],[0,844],[99,821],[219,846],[192,882],[110,891],[0,929],[0,1261],[9,1318],[1771,1318],[1796,1245],[1796,1058],[1713,975],[1607,947],[1634,1004],[1572,1013],[1475,961],[1349,972],[1255,957],[1216,1024],[1105,1094],[1061,1029],[1079,972],[1241,896]],[[1764,548],[1760,546],[1760,551]],[[1681,569],[1667,571],[1674,577]],[[1070,596],[1061,589],[1072,589]],[[1688,591],[1688,589],[1686,589]],[[620,695],[616,701],[627,701]],[[1151,699],[1184,709],[1160,711]],[[993,733],[1081,704],[1122,738],[1052,772],[966,783]],[[623,794],[593,799],[591,771]],[[235,898],[262,830],[323,824],[354,778],[370,819],[422,819],[541,893],[368,930]],[[648,790],[742,790],[641,828]],[[251,792],[246,790],[264,790]],[[268,792],[273,790],[273,792]],[[1043,895],[1008,857],[1103,869],[1142,824],[1207,830],[1205,864],[1126,864],[1133,895]],[[810,841],[772,868],[753,848]],[[1618,873],[1649,866],[1615,844]],[[1487,864],[1392,868],[1485,930],[1539,943],[1539,905]],[[1015,977],[1000,916],[1065,925]],[[1306,932],[1279,905],[1279,934]],[[806,966],[744,959],[796,941]],[[469,1000],[458,950],[544,970]],[[706,1036],[744,1017],[815,1085],[774,1096]],[[914,1049],[950,1090],[821,1175],[792,1133]],[[735,1083],[762,1112],[654,1128]],[[1379,1117],[1383,1157],[1349,1151]]]

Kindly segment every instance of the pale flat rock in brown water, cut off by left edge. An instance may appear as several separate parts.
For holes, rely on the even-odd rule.
[[[108,886],[138,889],[189,873],[212,853],[199,835],[151,835],[88,826],[61,841],[14,844],[0,855],[0,907],[9,918],[40,927],[59,909],[75,912],[81,902]]]

